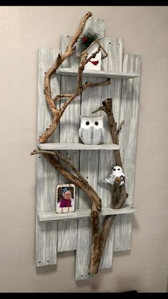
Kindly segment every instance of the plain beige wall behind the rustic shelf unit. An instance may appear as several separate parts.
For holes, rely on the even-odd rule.
[[[105,19],[105,36],[142,55],[132,248],[112,269],[75,282],[74,251],[35,267],[38,47],[60,47],[83,15]],[[168,267],[168,7],[0,6],[0,292],[166,292]]]

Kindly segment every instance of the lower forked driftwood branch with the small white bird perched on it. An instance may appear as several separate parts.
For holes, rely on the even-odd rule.
[[[87,83],[88,82],[86,82],[85,84]],[[112,99],[107,98],[106,101],[103,101],[103,106],[98,108],[96,111],[93,111],[93,113],[97,111],[105,111],[105,113],[107,114],[107,119],[109,121],[109,126],[110,126],[110,132],[112,135],[112,141],[113,143],[118,144],[119,143],[118,136],[117,136],[118,130],[117,130],[117,125],[115,123],[114,116],[112,114]],[[117,150],[117,152],[118,153],[117,156],[115,156],[115,162],[118,165],[122,166],[120,151]],[[90,201],[92,203],[91,213],[90,213],[92,245],[91,245],[91,255],[90,255],[90,263],[89,263],[88,270],[90,274],[96,274],[98,273],[100,260],[103,255],[103,250],[105,248],[105,244],[108,235],[110,233],[110,229],[112,228],[112,224],[115,221],[115,215],[105,217],[103,221],[103,228],[100,232],[99,216],[102,208],[102,203],[101,203],[101,198],[98,196],[95,190],[90,186],[90,184],[85,180],[85,178],[80,174],[80,172],[73,166],[73,164],[70,163],[69,160],[64,158],[60,153],[57,153],[56,151],[33,151],[31,155],[37,153],[43,154],[43,156],[56,168],[57,171],[59,171],[63,176],[65,176],[65,178],[67,178],[68,181],[75,183],[76,186],[78,186],[83,191],[85,191],[90,198]],[[114,154],[115,153],[116,151],[114,151]],[[68,171],[60,163],[60,161],[64,161],[66,166],[69,166],[70,171],[75,173],[75,175],[70,171]],[[121,208],[121,206],[123,205],[123,203],[125,203],[125,200],[127,198],[127,193],[125,193],[125,185],[120,186],[120,182],[121,182],[121,178],[116,178],[115,183],[113,185],[112,203],[114,208]]]

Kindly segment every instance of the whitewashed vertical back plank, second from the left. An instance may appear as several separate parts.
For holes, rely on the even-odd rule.
[[[61,51],[65,52],[68,46],[70,37],[61,36]],[[64,61],[65,67],[74,67],[75,58],[74,55],[70,59]],[[77,77],[61,76],[61,93],[73,93],[77,84]],[[61,99],[61,106],[65,102],[65,99]],[[60,121],[60,142],[61,143],[78,143],[78,127],[80,123],[80,96],[75,98],[73,103],[70,103],[65,109]],[[65,158],[70,159],[75,168],[78,169],[79,163],[79,151],[61,151],[61,154]],[[65,166],[65,163],[62,163]],[[66,166],[67,167],[67,166]],[[59,183],[71,183],[67,181],[61,173],[59,173]],[[78,188],[75,188],[75,208],[78,205]],[[58,252],[75,250],[77,243],[77,221],[75,219],[70,221],[61,221],[58,223]]]

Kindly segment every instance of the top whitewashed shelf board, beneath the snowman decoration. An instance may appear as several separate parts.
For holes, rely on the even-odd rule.
[[[70,68],[58,68],[56,70],[56,74],[59,75],[67,75],[67,76],[77,76],[78,69],[70,69]],[[90,71],[84,70],[83,76],[94,76],[100,78],[118,78],[118,79],[130,79],[140,77],[138,73],[126,73],[123,71],[120,72],[112,72],[112,71]]]

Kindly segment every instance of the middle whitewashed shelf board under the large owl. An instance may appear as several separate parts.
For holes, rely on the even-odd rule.
[[[55,151],[55,150],[109,150],[114,151],[120,149],[115,143],[103,143],[98,145],[89,145],[83,143],[38,143],[38,148],[41,150]]]

